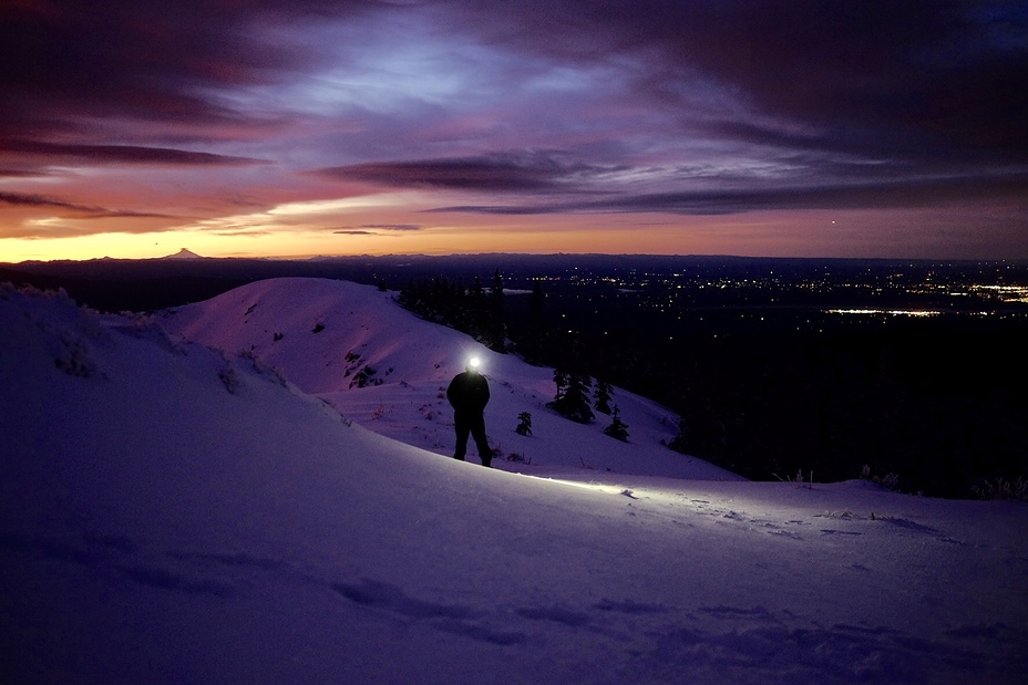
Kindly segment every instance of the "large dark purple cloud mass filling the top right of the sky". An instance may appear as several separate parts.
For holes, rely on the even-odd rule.
[[[455,27],[523,54],[636,64],[621,69],[636,104],[683,118],[716,120],[708,105],[731,118],[723,105],[733,102],[782,131],[816,131],[832,148],[850,143],[854,154],[913,138],[904,153],[1028,158],[1028,10],[1017,0],[461,7],[448,15]]]

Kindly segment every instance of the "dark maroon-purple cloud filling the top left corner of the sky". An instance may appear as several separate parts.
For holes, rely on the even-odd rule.
[[[235,123],[203,89],[274,81],[309,51],[267,32],[280,21],[354,15],[373,2],[313,0],[25,0],[0,9],[4,128],[38,133],[83,115]],[[44,115],[33,123],[33,111]],[[39,112],[37,112],[38,114]]]

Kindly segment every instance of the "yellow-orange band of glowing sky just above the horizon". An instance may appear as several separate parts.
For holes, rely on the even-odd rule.
[[[339,203],[285,205],[264,212],[196,221],[176,230],[0,238],[0,262],[148,259],[174,255],[183,248],[203,257],[284,259],[476,252],[1001,259],[1003,255],[991,251],[993,246],[1009,249],[1019,242],[1028,253],[1028,238],[1017,227],[989,225],[978,212],[808,210],[699,217],[483,217],[405,211],[400,206],[383,207],[381,198],[376,203]],[[953,225],[969,221],[972,216],[979,226],[976,241],[970,243],[966,235],[958,233],[962,241],[947,246],[945,239],[954,233]],[[117,227],[130,220],[111,221]],[[907,224],[919,226],[919,232],[911,235],[907,245],[898,243],[893,227]],[[924,236],[942,247],[925,253]]]

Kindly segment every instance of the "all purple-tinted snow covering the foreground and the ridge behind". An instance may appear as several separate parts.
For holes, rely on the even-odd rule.
[[[472,352],[531,463],[446,456]],[[0,682],[1022,682],[1025,506],[746,481],[621,390],[628,444],[553,415],[551,374],[352,283],[0,290]]]

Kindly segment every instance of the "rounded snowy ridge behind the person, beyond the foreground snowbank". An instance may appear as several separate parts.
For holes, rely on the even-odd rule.
[[[628,425],[628,443],[603,433],[611,421],[607,415],[597,414],[588,426],[568,422],[546,407],[555,392],[552,369],[496,354],[463,333],[422,321],[393,297],[345,281],[270,279],[179,308],[163,316],[162,325],[227,353],[245,351],[364,427],[439,454],[453,454],[445,387],[476,355],[492,391],[491,444],[517,459],[495,461],[500,468],[739,479],[668,449],[661,440],[675,437],[677,417],[626,391],[615,390],[613,402]],[[522,412],[532,415],[531,436],[515,432]]]

